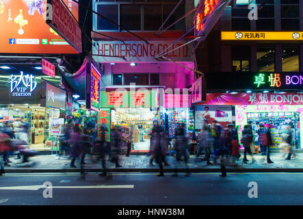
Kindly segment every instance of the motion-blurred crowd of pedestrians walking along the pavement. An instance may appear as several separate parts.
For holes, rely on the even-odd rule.
[[[23,162],[28,162],[28,157],[35,155],[33,151],[29,150],[29,125],[24,123],[22,130],[15,132],[11,123],[5,123],[5,127],[1,130],[0,136],[0,153],[3,155],[1,160],[1,172],[4,173],[4,166],[10,166],[10,156],[16,155],[16,159],[23,157]],[[103,172],[100,174],[102,177],[108,176],[106,162],[109,160],[116,165],[116,168],[121,167],[119,163],[120,147],[122,139],[127,142],[127,153],[129,156],[131,151],[131,144],[133,139],[133,131],[130,130],[127,136],[122,134],[120,127],[111,129],[110,142],[107,142],[107,127],[101,126],[99,130],[92,130],[82,128],[79,125],[70,123],[64,127],[64,135],[60,139],[60,157],[68,155],[70,158],[70,168],[77,168],[75,161],[80,159],[81,174],[85,174],[85,156],[91,157],[92,162],[101,162]],[[198,142],[198,149],[196,150],[196,157],[204,154],[202,161],[206,161],[207,165],[220,164],[222,170],[222,177],[226,177],[225,166],[236,166],[240,160],[240,143],[243,144],[243,164],[248,164],[248,155],[251,157],[251,162],[254,163],[254,154],[261,153],[267,156],[267,163],[272,164],[270,159],[270,146],[273,145],[270,129],[266,128],[263,123],[259,124],[259,129],[256,132],[258,135],[258,142],[254,142],[254,133],[252,131],[252,123],[243,127],[241,132],[241,139],[239,139],[238,130],[233,124],[222,127],[216,120],[213,124],[207,124],[196,136]],[[124,136],[124,137],[122,137]],[[283,142],[282,153],[287,153],[286,159],[291,159],[293,152],[291,151],[291,133],[285,132],[282,135]],[[185,166],[186,175],[191,175],[188,168],[189,161],[189,139],[186,136],[185,125],[179,126],[175,131],[175,137],[172,146],[168,133],[161,125],[155,125],[150,133],[150,165],[153,165],[153,160],[159,165],[159,177],[163,177],[163,166],[170,166],[166,161],[166,155],[170,150],[174,151],[176,165],[181,165],[182,162]],[[163,165],[164,164],[164,165]],[[172,177],[178,175],[179,168],[175,166],[174,174]]]

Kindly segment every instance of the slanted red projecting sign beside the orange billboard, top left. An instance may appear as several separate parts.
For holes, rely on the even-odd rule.
[[[51,5],[47,24],[64,38],[75,50],[82,52],[81,29],[60,0],[47,0]]]

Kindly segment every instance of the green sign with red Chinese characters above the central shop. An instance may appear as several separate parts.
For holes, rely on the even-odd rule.
[[[136,91],[101,91],[101,107],[104,108],[146,108],[158,107],[157,90],[139,89]]]

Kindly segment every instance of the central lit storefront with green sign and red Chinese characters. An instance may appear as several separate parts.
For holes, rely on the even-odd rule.
[[[150,149],[150,131],[159,122],[158,89],[101,91],[101,110],[98,124],[106,125],[108,130],[119,127],[122,137],[133,129],[131,152],[148,152]],[[110,132],[107,132],[106,139]],[[127,149],[123,140],[122,151]]]

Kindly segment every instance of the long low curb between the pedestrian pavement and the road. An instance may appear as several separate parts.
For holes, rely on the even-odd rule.
[[[159,172],[157,168],[109,168],[109,172]],[[185,168],[164,168],[164,172],[186,172]],[[221,172],[220,168],[189,168],[191,172]],[[102,172],[103,169],[85,169],[85,172]],[[76,169],[5,169],[5,172],[80,172]],[[303,172],[303,168],[226,168],[226,172]]]

